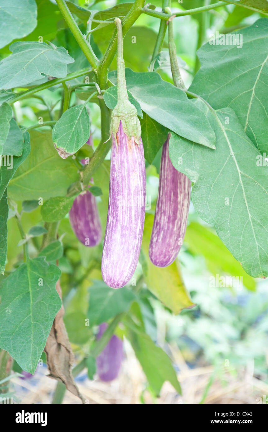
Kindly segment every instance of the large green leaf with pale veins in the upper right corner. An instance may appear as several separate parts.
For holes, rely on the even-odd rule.
[[[215,108],[230,107],[260,152],[268,153],[268,18],[240,29],[243,47],[202,46],[201,67],[189,90]],[[240,36],[241,38],[241,36]]]

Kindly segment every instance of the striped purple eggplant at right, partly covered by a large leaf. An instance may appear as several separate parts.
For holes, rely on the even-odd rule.
[[[191,196],[191,181],[173,167],[168,146],[169,136],[162,150],[158,197],[149,245],[150,260],[157,267],[172,264],[180,251]]]

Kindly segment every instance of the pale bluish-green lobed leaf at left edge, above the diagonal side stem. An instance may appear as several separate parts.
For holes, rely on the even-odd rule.
[[[0,89],[21,87],[43,74],[64,78],[66,65],[74,61],[65,48],[53,49],[44,42],[15,42],[9,50],[13,54],[0,62]]]

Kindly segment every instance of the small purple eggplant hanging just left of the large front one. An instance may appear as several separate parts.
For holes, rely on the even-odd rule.
[[[83,245],[96,246],[100,243],[101,221],[96,198],[91,192],[82,192],[75,198],[69,211],[69,221],[74,234]]]

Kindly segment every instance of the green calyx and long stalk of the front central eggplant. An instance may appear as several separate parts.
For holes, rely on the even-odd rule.
[[[131,139],[134,137],[135,143],[139,145],[141,137],[141,125],[137,110],[129,102],[126,91],[125,63],[123,60],[123,35],[121,20],[116,18],[117,25],[117,105],[111,115],[110,132],[116,136],[120,121],[126,136]]]

